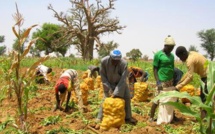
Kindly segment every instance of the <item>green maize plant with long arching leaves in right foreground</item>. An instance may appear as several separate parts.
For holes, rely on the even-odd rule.
[[[178,97],[178,98],[187,98],[191,102],[191,107],[197,107],[199,109],[207,111],[206,117],[201,118],[201,112],[193,110],[190,107],[185,106],[180,102],[167,102],[164,104],[172,105],[178,109],[182,114],[188,115],[196,118],[200,124],[200,132],[202,134],[214,134],[215,133],[215,63],[208,62],[208,72],[207,72],[207,86],[208,94],[206,95],[206,102],[202,102],[199,96],[191,96],[187,92],[177,92],[169,91],[163,94],[160,94],[152,101],[157,101],[163,97]],[[204,121],[204,122],[203,122]]]

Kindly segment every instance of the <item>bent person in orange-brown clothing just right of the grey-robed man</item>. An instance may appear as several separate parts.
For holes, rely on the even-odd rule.
[[[134,97],[134,83],[137,82],[137,78],[140,78],[140,82],[146,82],[149,74],[139,67],[131,66],[128,68],[128,82],[131,98]]]

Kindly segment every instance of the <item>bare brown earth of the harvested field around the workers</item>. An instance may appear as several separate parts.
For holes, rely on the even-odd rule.
[[[80,132],[79,130],[84,129],[85,134],[94,134],[94,133],[102,133],[102,134],[118,134],[118,133],[130,133],[130,134],[167,134],[165,125],[156,125],[156,122],[148,122],[148,112],[150,110],[150,99],[152,97],[152,90],[149,93],[149,100],[147,102],[142,102],[138,104],[132,104],[134,107],[138,107],[143,111],[144,114],[137,114],[133,112],[133,117],[138,121],[138,124],[136,126],[132,126],[132,130],[125,131],[126,129],[129,129],[128,125],[123,125],[120,129],[110,129],[108,131],[100,131],[95,130],[94,126],[95,123],[93,122],[95,120],[95,117],[93,116],[94,110],[90,106],[90,104],[87,105],[87,111],[81,115],[79,114],[78,117],[70,116],[72,113],[77,112],[78,110],[73,108],[70,109],[69,112],[65,113],[63,111],[55,111],[53,112],[54,106],[55,106],[55,95],[54,95],[54,89],[53,86],[55,84],[55,81],[59,78],[60,69],[54,68],[53,71],[55,72],[55,76],[53,78],[53,81],[50,85],[39,85],[39,89],[36,92],[35,97],[30,98],[28,103],[28,118],[27,123],[29,126],[29,133],[32,134],[44,134],[47,131],[53,130],[53,129],[59,129],[60,127],[63,128],[69,128],[72,130],[77,130],[77,132]],[[80,72],[81,73],[81,72]],[[81,74],[80,74],[81,76]],[[149,87],[154,87],[153,85],[150,85]],[[95,97],[92,94],[89,95],[90,97]],[[99,108],[99,105],[98,105]],[[0,123],[4,122],[7,117],[14,117],[15,119],[18,119],[17,116],[17,102],[15,100],[15,95],[12,99],[4,99],[2,101],[2,104],[0,105]],[[41,124],[42,120],[49,116],[60,116],[61,120],[56,124],[50,124],[47,126],[44,126]],[[81,117],[80,117],[81,116]],[[178,122],[172,123],[169,126],[171,128],[183,128],[183,132],[187,134],[195,133],[192,130],[191,122],[195,122],[194,119],[188,118],[179,112],[176,111],[176,116],[180,119]],[[83,119],[88,120],[89,122],[86,123],[83,121]],[[17,121],[18,123],[18,121]],[[7,129],[7,128],[6,128]],[[0,132],[4,133],[4,132]],[[75,133],[75,131],[74,131]]]

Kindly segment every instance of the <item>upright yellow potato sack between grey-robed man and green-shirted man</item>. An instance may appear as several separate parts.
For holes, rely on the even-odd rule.
[[[146,82],[134,83],[134,97],[132,102],[144,102],[148,99],[148,84]]]

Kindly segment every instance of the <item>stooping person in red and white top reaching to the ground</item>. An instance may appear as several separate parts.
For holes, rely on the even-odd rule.
[[[60,78],[57,80],[55,85],[55,98],[56,98],[56,108],[63,110],[62,104],[65,100],[66,94],[67,94],[67,100],[66,100],[66,107],[64,109],[65,112],[69,110],[69,100],[71,97],[71,91],[75,90],[75,93],[78,97],[78,107],[81,112],[83,112],[83,100],[81,97],[81,91],[79,88],[79,81],[78,81],[78,73],[74,69],[67,69],[63,71]]]

